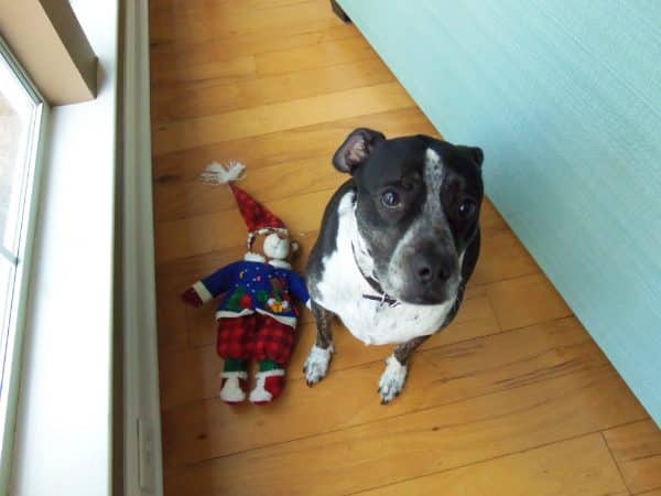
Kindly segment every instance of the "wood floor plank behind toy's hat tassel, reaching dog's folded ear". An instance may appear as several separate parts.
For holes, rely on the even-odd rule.
[[[419,111],[412,112],[407,109],[169,154],[155,161],[155,218],[172,220],[235,207],[231,195],[221,194],[221,190],[199,182],[199,173],[212,161],[243,162],[248,169],[242,185],[264,203],[311,188],[319,191],[317,182],[327,187],[339,184],[347,176],[333,168],[330,158],[346,136],[361,126],[361,122],[362,126],[378,127],[389,136],[419,132],[435,134],[429,121]],[[261,169],[269,170],[262,172]],[[282,181],[283,176],[288,181]],[[313,180],[314,185],[311,184]],[[282,187],[273,187],[275,183]],[[489,215],[496,215],[491,211]]]

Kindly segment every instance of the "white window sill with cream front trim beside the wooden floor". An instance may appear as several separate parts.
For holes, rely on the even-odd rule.
[[[149,4],[57,1],[98,94],[48,112],[9,494],[159,496]]]

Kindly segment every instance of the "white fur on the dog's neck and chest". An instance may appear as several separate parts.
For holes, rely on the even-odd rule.
[[[354,193],[347,193],[339,203],[337,249],[323,259],[318,303],[337,314],[350,333],[366,344],[399,344],[435,333],[452,309],[452,301],[388,306],[364,298],[377,293],[360,274],[351,249],[351,242],[361,244],[353,198]]]

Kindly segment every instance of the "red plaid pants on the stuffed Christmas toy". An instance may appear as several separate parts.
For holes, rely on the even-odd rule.
[[[216,351],[221,358],[271,359],[284,366],[293,348],[293,327],[269,315],[218,319]]]

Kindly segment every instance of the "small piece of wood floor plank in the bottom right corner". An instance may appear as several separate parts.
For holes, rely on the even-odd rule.
[[[632,494],[661,488],[661,431],[648,419],[604,432]]]

